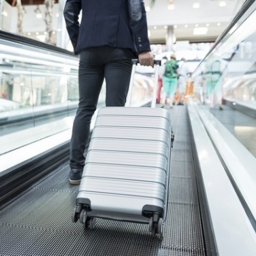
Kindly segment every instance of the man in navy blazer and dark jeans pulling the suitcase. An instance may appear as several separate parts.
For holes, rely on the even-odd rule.
[[[80,57],[79,103],[69,157],[69,183],[78,185],[103,80],[106,80],[106,106],[125,106],[131,59],[138,58],[140,65],[152,67],[154,59],[143,0],[67,0],[63,15],[74,53]]]

